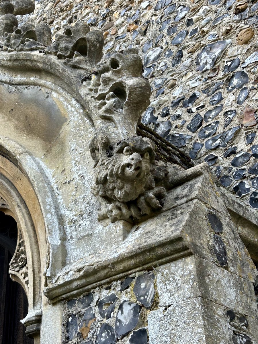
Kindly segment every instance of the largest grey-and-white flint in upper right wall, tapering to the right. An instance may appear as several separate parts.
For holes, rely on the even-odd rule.
[[[197,54],[197,71],[204,72],[211,69],[228,44],[228,41],[218,41],[205,45],[203,50]]]

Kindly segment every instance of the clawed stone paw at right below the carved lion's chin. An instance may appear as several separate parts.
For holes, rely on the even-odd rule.
[[[137,205],[141,210],[141,214],[150,215],[154,209],[161,209],[162,205],[160,204],[160,200],[165,196],[166,190],[162,186],[146,191],[144,195],[140,196],[137,200]]]

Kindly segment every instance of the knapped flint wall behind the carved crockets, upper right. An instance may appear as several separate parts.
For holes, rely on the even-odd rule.
[[[104,51],[138,47],[152,87],[143,123],[211,166],[218,181],[258,208],[258,1],[36,1],[18,20],[80,20]]]

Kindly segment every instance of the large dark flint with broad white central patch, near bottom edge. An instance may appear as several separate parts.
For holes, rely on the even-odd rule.
[[[131,332],[138,324],[141,307],[137,303],[123,301],[120,303],[116,320],[115,333],[122,338]]]

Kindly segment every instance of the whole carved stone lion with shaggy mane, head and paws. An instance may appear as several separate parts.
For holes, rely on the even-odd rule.
[[[98,219],[139,219],[161,209],[166,196],[162,180],[166,165],[155,164],[155,144],[141,136],[129,138],[113,147],[107,137],[97,137],[90,144],[96,163],[93,193],[99,197]]]

